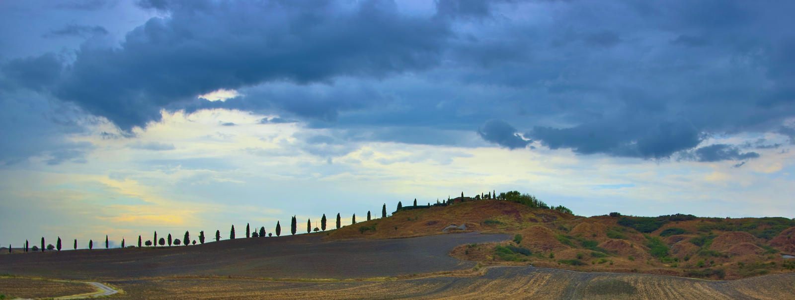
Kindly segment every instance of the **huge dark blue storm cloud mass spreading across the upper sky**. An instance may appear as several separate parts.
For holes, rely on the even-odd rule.
[[[795,116],[795,35],[781,30],[795,27],[795,2],[440,1],[424,13],[369,1],[138,4],[167,17],[117,48],[83,47],[67,65],[54,55],[2,63],[2,86],[52,94],[126,130],[163,109],[225,108],[336,129],[345,141],[461,145],[449,133],[467,131],[523,148],[518,132],[553,149],[642,159],[696,155],[715,133],[795,140],[781,127]],[[221,88],[242,95],[196,99]]]

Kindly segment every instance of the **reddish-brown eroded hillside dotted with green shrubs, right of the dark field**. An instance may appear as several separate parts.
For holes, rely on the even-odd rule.
[[[634,225],[619,225],[622,218],[625,219],[622,223],[628,223],[628,219]],[[738,279],[792,272],[795,268],[795,261],[781,258],[781,254],[793,254],[795,249],[795,228],[792,228],[795,221],[786,218],[697,217],[669,221],[577,217],[554,210],[529,209],[513,202],[481,200],[405,210],[333,230],[326,238],[417,237],[440,234],[448,225],[461,224],[466,224],[469,230],[522,235],[520,244],[505,241],[461,245],[451,252],[454,257],[484,264],[531,263],[576,271],[705,279]],[[497,251],[498,246],[518,246],[532,254],[522,255],[519,252],[524,250],[517,248],[510,252],[504,248]]]

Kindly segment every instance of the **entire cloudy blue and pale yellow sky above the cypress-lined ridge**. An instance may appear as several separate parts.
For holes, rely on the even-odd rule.
[[[0,244],[519,190],[795,217],[795,2],[0,2]]]

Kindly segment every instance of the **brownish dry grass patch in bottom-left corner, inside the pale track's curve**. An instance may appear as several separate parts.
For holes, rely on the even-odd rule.
[[[54,298],[72,294],[92,293],[96,290],[95,287],[85,283],[9,276],[0,277],[0,294],[4,294],[6,298]]]

